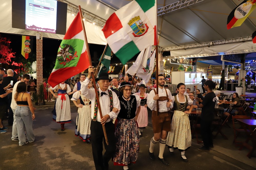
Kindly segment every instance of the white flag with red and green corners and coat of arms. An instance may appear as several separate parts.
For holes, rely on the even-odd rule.
[[[155,0],[134,0],[113,13],[102,31],[122,64],[148,46],[157,45]]]

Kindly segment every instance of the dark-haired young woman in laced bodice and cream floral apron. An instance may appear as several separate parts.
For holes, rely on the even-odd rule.
[[[186,91],[185,84],[179,83],[177,88],[179,93],[172,97],[174,114],[166,145],[168,145],[170,154],[173,154],[173,149],[178,149],[181,152],[182,160],[188,162],[185,151],[190,148],[192,140],[188,116],[193,109],[193,101],[187,95],[184,95]],[[187,106],[190,106],[188,111]]]

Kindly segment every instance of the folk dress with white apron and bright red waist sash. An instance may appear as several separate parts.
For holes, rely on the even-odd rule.
[[[70,123],[71,113],[70,113],[70,102],[67,93],[71,92],[71,88],[66,83],[60,83],[52,90],[58,89],[58,98],[56,99],[54,112],[52,119],[57,123]]]

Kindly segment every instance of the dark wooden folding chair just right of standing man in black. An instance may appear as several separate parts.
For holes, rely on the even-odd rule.
[[[213,121],[212,125],[213,125],[213,129],[212,132],[217,129],[217,133],[214,135],[213,139],[216,138],[216,136],[220,133],[224,139],[228,139],[226,137],[226,135],[221,131],[222,127],[226,124],[227,120],[229,119],[230,114],[228,112],[223,113],[223,115],[221,116],[221,118],[218,121]]]

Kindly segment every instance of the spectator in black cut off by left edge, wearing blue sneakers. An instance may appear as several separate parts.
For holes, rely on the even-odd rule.
[[[9,84],[5,88],[2,86],[3,82],[3,75],[0,74],[0,133],[5,133],[8,128],[4,127],[2,124],[2,119],[5,117],[6,112],[6,106],[7,106],[7,95],[12,92],[12,90],[7,90],[5,93],[5,90],[11,85]]]

